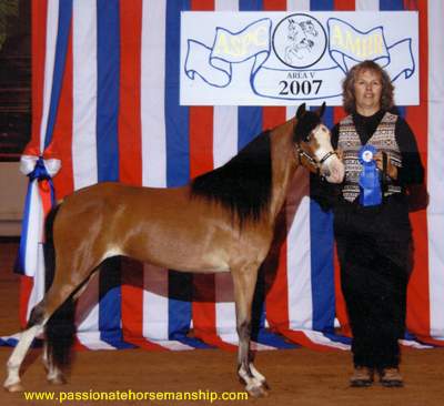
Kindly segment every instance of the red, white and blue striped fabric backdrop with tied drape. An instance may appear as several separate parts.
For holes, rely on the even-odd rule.
[[[421,105],[401,111],[427,166],[430,204],[412,214],[416,248],[405,343],[443,343],[441,1],[33,0],[32,6],[33,133],[23,163],[29,173],[42,155],[39,173],[57,172],[58,160],[61,170],[52,180],[30,182],[21,244],[22,323],[42,295],[40,224],[51,183],[57,199],[102,181],[183,185],[294,114],[295,106],[180,106],[181,11],[418,10]],[[326,123],[343,115],[341,108],[329,108]],[[289,341],[349,348],[332,215],[310,201],[309,192],[301,170],[282,222],[286,240],[266,261],[258,285],[258,348],[293,346]],[[79,301],[77,324],[78,344],[88,348],[232,348],[236,342],[230,275],[164,272],[129,260],[111,262],[90,284]],[[334,334],[337,325],[343,335]]]

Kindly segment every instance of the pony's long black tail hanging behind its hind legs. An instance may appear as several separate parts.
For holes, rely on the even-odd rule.
[[[60,205],[51,210],[46,221],[44,267],[46,291],[52,285],[56,274],[56,250],[53,223]],[[74,301],[70,296],[49,318],[44,326],[49,362],[62,369],[71,362],[71,347],[74,342]]]

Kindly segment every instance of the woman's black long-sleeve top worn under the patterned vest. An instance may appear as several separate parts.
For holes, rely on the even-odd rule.
[[[365,145],[375,132],[385,111],[380,110],[371,116],[364,116],[359,113],[353,114],[353,122],[356,132],[361,139],[362,145]],[[332,129],[332,146],[337,148],[340,136],[340,123]],[[410,185],[420,185],[424,182],[424,166],[417,149],[415,135],[407,122],[398,116],[395,124],[395,139],[400,148],[402,158],[402,168],[397,169],[397,179],[394,181],[404,190]],[[326,210],[334,205],[341,196],[341,185],[334,185],[312,175],[311,196],[315,199],[321,206]]]

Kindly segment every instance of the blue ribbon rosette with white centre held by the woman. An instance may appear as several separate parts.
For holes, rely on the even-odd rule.
[[[380,171],[374,161],[375,153],[376,149],[373,145],[364,145],[359,153],[359,160],[362,164],[359,179],[360,204],[363,206],[374,206],[382,202]]]

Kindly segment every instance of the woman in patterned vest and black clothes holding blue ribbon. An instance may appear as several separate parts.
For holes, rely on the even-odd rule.
[[[397,341],[404,336],[412,268],[406,193],[423,182],[424,170],[412,130],[392,112],[393,85],[379,64],[364,61],[350,70],[343,105],[350,115],[332,130],[332,144],[346,173],[333,211],[353,334],[350,384],[370,386],[376,373],[382,385],[403,386]]]

